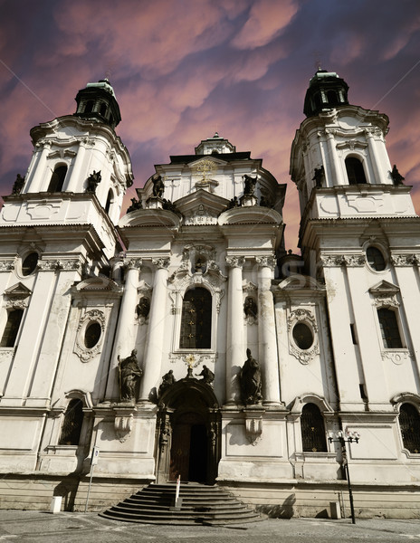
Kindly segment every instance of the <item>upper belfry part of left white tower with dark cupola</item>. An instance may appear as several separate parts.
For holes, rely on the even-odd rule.
[[[108,80],[88,83],[77,110],[31,130],[33,157],[27,174],[5,196],[0,224],[91,224],[106,258],[118,243],[124,194],[132,185],[129,152],[115,133],[121,116]]]

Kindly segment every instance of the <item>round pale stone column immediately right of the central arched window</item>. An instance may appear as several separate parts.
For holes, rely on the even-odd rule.
[[[243,343],[243,256],[226,256],[229,266],[227,294],[227,338],[226,338],[226,404],[234,404],[239,397],[237,374],[246,358]]]

